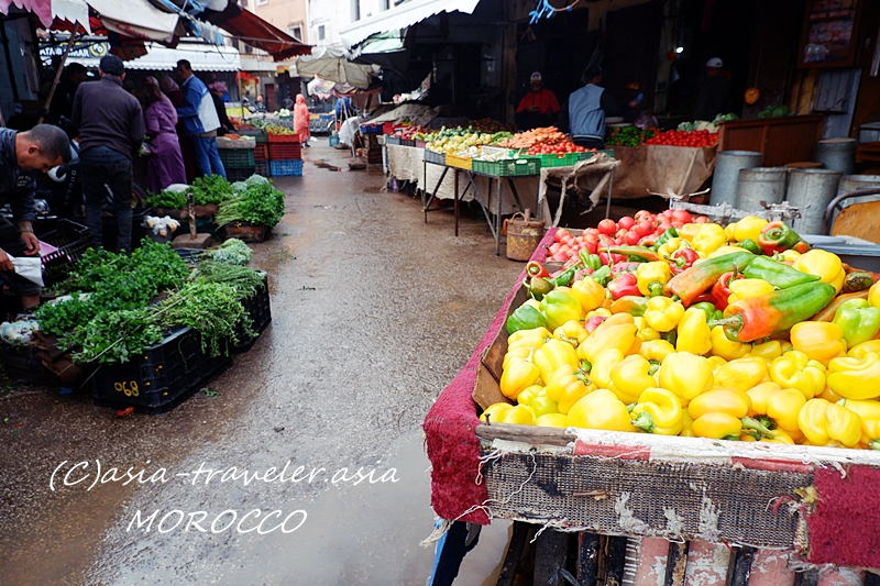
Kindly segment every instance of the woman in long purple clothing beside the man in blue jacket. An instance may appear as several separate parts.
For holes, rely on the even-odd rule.
[[[177,111],[162,93],[155,77],[144,85],[144,122],[150,136],[150,158],[146,162],[147,189],[158,194],[173,184],[186,184],[186,168],[177,140]]]

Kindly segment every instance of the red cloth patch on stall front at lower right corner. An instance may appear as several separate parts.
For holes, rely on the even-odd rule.
[[[806,518],[807,561],[857,567],[880,567],[880,469],[849,466],[846,477],[832,467],[817,468],[816,510]]]

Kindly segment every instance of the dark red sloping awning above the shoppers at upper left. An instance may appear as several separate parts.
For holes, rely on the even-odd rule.
[[[206,10],[199,16],[227,31],[239,41],[265,51],[275,60],[311,53],[311,46],[304,45],[253,12],[243,10],[231,2],[222,12]]]

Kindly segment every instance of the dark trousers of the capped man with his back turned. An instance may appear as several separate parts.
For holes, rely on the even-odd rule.
[[[131,252],[131,159],[106,146],[92,146],[79,154],[82,173],[82,195],[86,197],[86,223],[95,247],[103,245],[101,221],[107,187],[112,191],[112,210],[119,222],[119,252]]]

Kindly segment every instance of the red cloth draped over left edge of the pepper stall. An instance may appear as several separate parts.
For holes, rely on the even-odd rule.
[[[547,258],[547,246],[553,242],[556,231],[556,228],[547,231],[531,256],[534,261],[543,262]],[[525,269],[498,313],[495,314],[488,331],[471,354],[468,364],[443,389],[422,422],[427,436],[428,458],[431,461],[431,507],[443,519],[490,523],[488,516],[482,509],[463,515],[472,507],[484,504],[488,498],[486,485],[476,484],[480,440],[475,430],[480,424],[480,418],[476,417],[477,408],[472,395],[480,357],[504,327],[507,308],[524,278]]]

